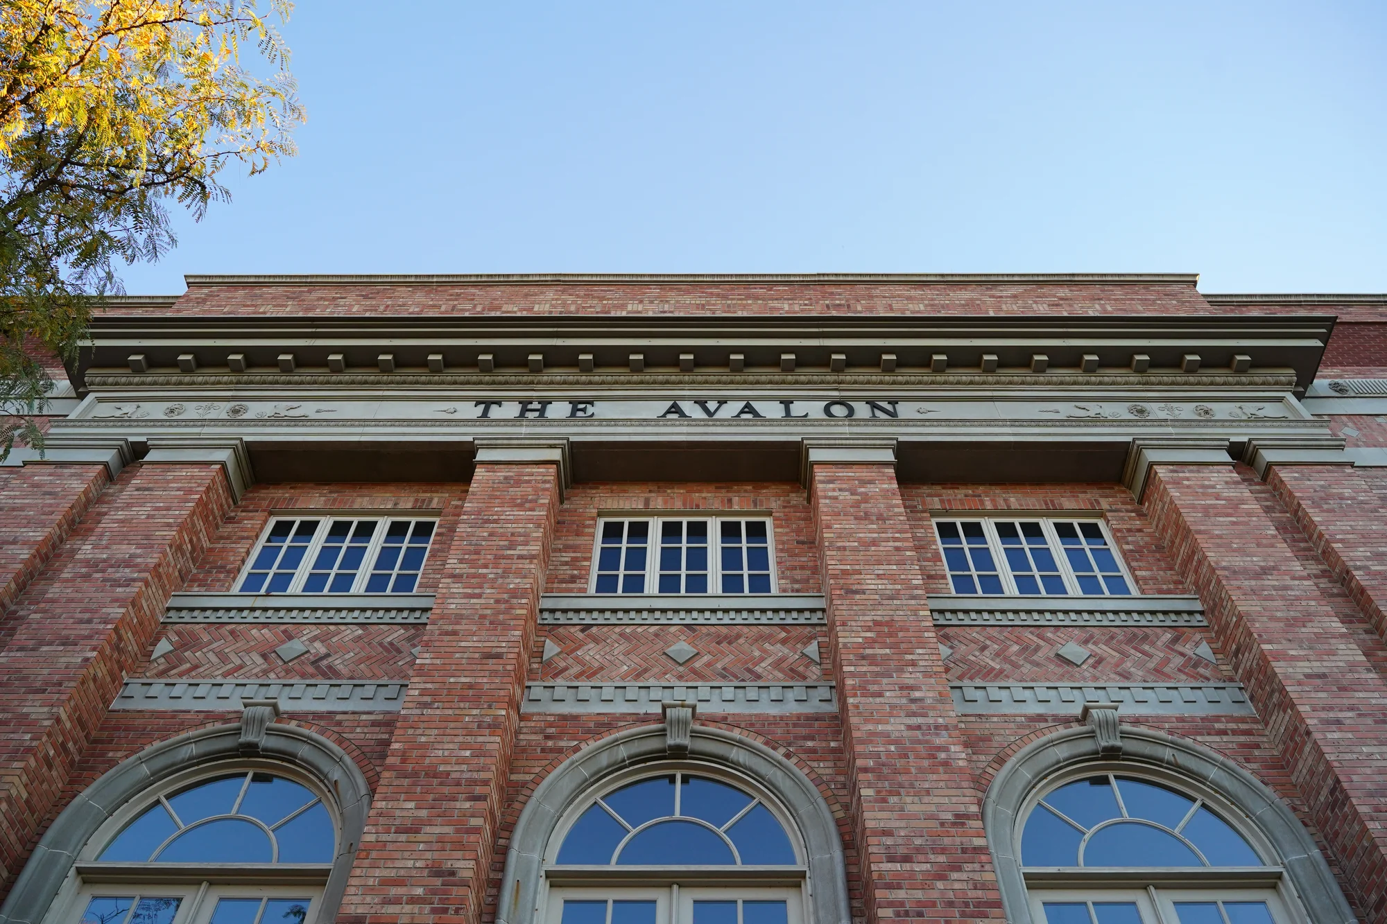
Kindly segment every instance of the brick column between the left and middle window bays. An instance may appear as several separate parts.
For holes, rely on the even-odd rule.
[[[481,921],[559,508],[544,455],[479,451],[338,921]]]

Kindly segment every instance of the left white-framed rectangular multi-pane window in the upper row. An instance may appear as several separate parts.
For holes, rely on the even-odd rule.
[[[276,519],[241,574],[243,594],[408,594],[436,520]]]

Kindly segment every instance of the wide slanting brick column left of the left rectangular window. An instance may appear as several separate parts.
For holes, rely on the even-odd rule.
[[[0,652],[3,887],[230,506],[221,465],[126,469],[15,601]]]

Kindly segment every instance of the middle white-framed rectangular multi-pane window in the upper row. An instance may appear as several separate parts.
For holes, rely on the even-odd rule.
[[[771,594],[771,522],[745,517],[603,519],[595,594]]]

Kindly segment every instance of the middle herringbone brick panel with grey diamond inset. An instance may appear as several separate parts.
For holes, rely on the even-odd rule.
[[[803,653],[820,635],[816,626],[558,626],[545,637],[563,653],[541,663],[541,638],[531,676],[538,667],[538,680],[821,680]],[[664,653],[680,641],[699,652],[684,665]]]

